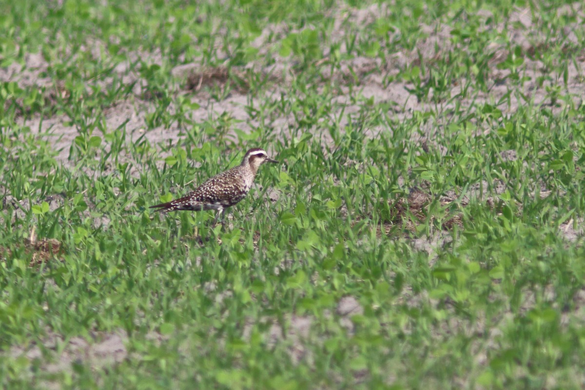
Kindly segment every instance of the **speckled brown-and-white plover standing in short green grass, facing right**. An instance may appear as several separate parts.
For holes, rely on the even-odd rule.
[[[268,157],[266,150],[250,149],[242,158],[240,165],[209,178],[183,198],[150,206],[150,208],[157,209],[156,211],[161,213],[179,210],[216,210],[213,226],[216,225],[219,215],[222,216],[223,225],[225,210],[246,197],[258,168],[264,163],[279,164],[278,161]]]

